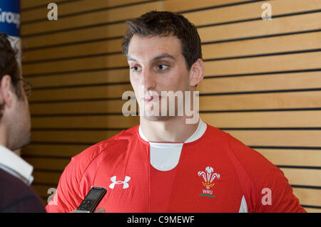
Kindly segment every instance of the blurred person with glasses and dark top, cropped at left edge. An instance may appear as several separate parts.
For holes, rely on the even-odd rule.
[[[9,37],[0,33],[0,212],[46,212],[29,186],[34,168],[13,152],[30,142],[30,93],[16,51]]]

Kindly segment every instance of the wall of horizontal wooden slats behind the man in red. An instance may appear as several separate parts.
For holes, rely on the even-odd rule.
[[[50,1],[48,1],[49,3]],[[272,5],[272,20],[260,17]],[[151,9],[180,12],[203,42],[200,115],[237,137],[285,173],[300,204],[321,212],[320,0],[21,0],[23,61],[34,84],[34,188],[46,199],[70,157],[139,123],[123,117],[131,90],[121,54],[126,19]]]

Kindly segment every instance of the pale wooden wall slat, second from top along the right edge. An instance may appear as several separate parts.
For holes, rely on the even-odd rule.
[[[309,31],[321,28],[321,13],[285,16],[271,21],[249,21],[198,28],[202,42]]]

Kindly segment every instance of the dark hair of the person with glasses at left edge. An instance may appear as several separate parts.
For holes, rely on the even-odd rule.
[[[16,95],[21,98],[22,90],[20,83],[20,68],[16,60],[18,51],[12,48],[9,41],[9,36],[6,33],[0,33],[0,82],[4,75],[11,77],[11,85],[14,88]],[[4,104],[0,103],[0,118],[2,117],[1,110]]]

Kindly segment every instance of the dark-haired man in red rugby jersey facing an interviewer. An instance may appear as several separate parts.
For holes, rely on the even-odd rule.
[[[123,53],[140,125],[73,157],[46,210],[73,211],[92,186],[103,186],[99,206],[107,212],[305,212],[282,171],[263,155],[199,118],[178,115],[182,106],[198,111],[191,94],[204,77],[193,23],[151,11],[128,25]],[[170,91],[183,93],[184,103],[177,96],[169,105],[162,92]]]

